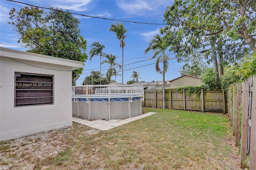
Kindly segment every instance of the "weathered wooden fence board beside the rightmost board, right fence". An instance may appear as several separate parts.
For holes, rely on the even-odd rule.
[[[240,148],[240,167],[245,168],[244,160],[247,156],[248,139],[248,103],[249,102],[249,83],[242,83],[242,125],[241,125],[241,148]]]

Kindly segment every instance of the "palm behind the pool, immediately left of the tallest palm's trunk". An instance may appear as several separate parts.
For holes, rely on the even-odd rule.
[[[108,84],[110,84],[111,77],[116,73],[115,67],[118,66],[119,69],[121,69],[121,65],[116,63],[117,57],[115,55],[106,54],[105,57],[106,57],[106,59],[104,61],[102,61],[101,64],[108,63],[110,65],[110,67],[108,68],[107,73],[106,73],[106,77],[108,79]]]

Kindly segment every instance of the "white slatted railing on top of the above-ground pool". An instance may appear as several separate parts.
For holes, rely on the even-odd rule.
[[[73,97],[88,97],[88,96],[144,96],[143,86],[134,85],[78,85],[72,86]]]

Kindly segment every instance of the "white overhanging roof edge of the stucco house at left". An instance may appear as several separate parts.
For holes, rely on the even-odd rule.
[[[12,59],[24,59],[29,61],[37,61],[41,63],[51,63],[56,65],[65,65],[72,67],[72,70],[80,69],[84,67],[84,63],[81,61],[75,61],[70,59],[63,59],[58,57],[52,57],[48,55],[30,53],[26,51],[19,51],[15,49],[9,49],[0,47],[0,56],[9,57]]]

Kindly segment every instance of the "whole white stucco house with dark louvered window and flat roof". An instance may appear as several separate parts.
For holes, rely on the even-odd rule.
[[[72,126],[72,70],[83,65],[0,47],[0,140]]]

